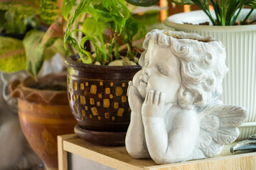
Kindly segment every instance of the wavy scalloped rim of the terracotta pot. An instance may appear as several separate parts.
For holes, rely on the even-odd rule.
[[[60,74],[48,74],[46,77],[38,79],[38,82],[55,79],[56,77],[64,78],[66,77],[66,72]],[[29,82],[30,81],[30,82]],[[60,100],[59,103],[68,103],[68,91],[55,91],[55,90],[43,90],[43,89],[34,89],[29,87],[26,83],[35,83],[37,84],[32,77],[24,79],[22,82],[14,81],[9,85],[9,91],[11,92],[12,97],[21,98],[26,101],[36,102],[36,103],[46,103],[51,104],[58,101],[58,98],[67,98],[67,100]]]

